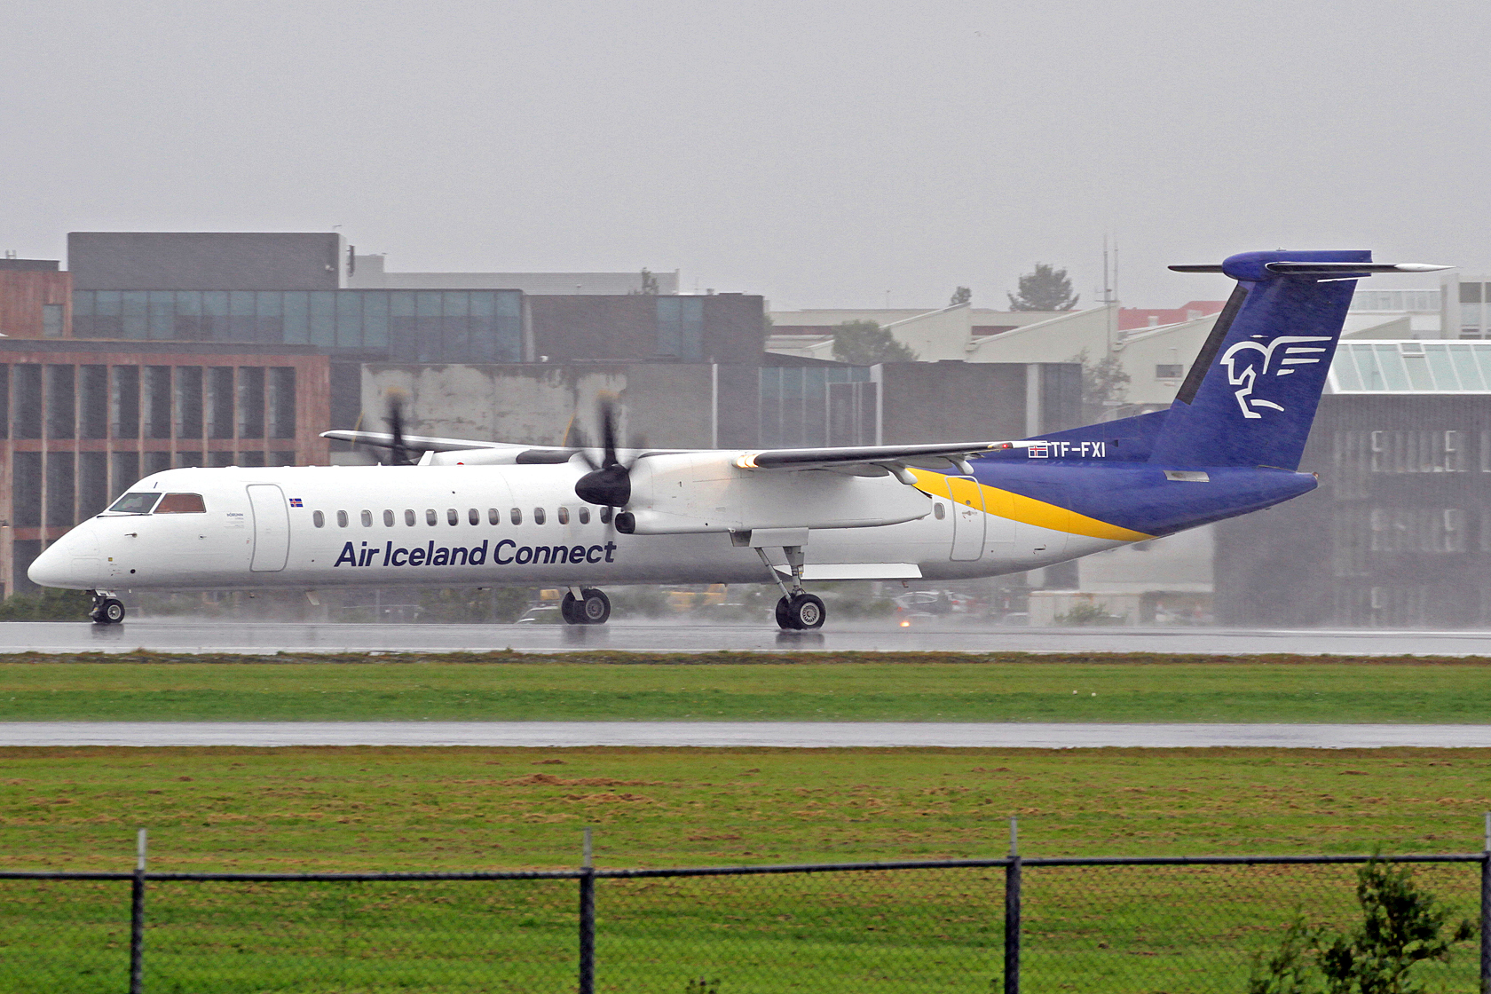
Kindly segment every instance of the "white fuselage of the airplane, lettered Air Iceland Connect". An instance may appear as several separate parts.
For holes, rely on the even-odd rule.
[[[83,590],[772,581],[738,535],[617,534],[601,508],[576,498],[584,471],[579,463],[170,469],[130,492],[201,495],[206,511],[106,511],[52,542],[31,578]],[[887,504],[907,499],[895,477],[856,486],[884,487]],[[986,577],[1123,544],[971,513],[950,501],[945,481],[941,496],[920,486],[929,490],[915,495],[926,501],[920,519],[811,529],[807,578],[875,578],[875,569],[825,571],[856,563],[901,569],[883,578]],[[780,548],[766,551],[783,562]]]

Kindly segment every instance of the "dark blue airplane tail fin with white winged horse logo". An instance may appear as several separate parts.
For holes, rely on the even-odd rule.
[[[1363,264],[1354,268],[1352,264]],[[1166,413],[1151,462],[1297,469],[1355,280],[1370,252],[1246,252],[1238,286]]]

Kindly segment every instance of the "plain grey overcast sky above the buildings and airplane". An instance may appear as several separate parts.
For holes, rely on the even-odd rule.
[[[1491,264],[1485,3],[0,6],[0,249],[325,231],[775,307],[1173,306],[1270,247]],[[1382,282],[1382,286],[1391,283]],[[1409,285],[1425,283],[1422,277]]]

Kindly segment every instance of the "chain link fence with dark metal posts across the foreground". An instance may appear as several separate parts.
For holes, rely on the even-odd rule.
[[[1003,858],[549,873],[0,873],[0,991],[1241,993],[1369,857]],[[1479,955],[1491,855],[1388,855]]]

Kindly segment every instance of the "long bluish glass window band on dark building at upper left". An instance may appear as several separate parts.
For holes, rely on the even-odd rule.
[[[699,340],[683,316],[677,326],[680,347]],[[75,291],[73,335],[316,346],[376,352],[391,362],[522,362],[523,295],[520,291]]]

